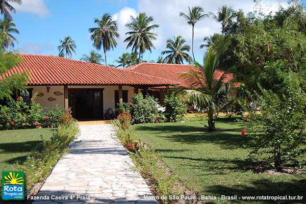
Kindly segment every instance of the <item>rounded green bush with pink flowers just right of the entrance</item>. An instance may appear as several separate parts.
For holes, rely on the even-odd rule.
[[[135,94],[130,103],[123,104],[123,109],[131,114],[132,123],[155,122],[159,115],[157,101],[152,96],[143,97],[141,93]]]

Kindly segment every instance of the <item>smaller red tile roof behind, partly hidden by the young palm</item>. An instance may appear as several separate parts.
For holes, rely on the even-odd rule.
[[[128,67],[127,69],[135,71],[137,73],[145,73],[154,77],[164,78],[172,81],[180,82],[180,86],[189,87],[190,82],[181,77],[181,72],[188,72],[193,69],[192,65],[184,64],[160,64],[160,63],[140,63],[135,66]],[[224,72],[216,70],[215,74],[217,79],[220,79]],[[233,78],[233,74],[230,74],[229,80]]]

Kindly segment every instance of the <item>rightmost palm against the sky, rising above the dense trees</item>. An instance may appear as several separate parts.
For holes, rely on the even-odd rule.
[[[218,8],[217,15],[210,12],[209,15],[212,16],[217,22],[221,22],[222,24],[222,35],[224,34],[225,25],[231,18],[233,18],[234,10],[232,7],[228,7],[223,5],[222,7]]]

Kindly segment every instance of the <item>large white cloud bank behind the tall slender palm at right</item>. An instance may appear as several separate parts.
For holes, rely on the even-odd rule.
[[[188,7],[201,6],[205,13],[216,13],[217,9],[224,4],[233,6],[235,10],[243,9],[245,14],[252,11],[255,6],[253,0],[140,0],[138,2],[138,10],[139,12],[146,12],[147,15],[153,16],[155,18],[154,23],[160,25],[160,28],[156,31],[159,36],[155,44],[158,49],[157,51],[161,51],[165,47],[166,39],[177,35],[183,36],[187,40],[187,43],[191,45],[192,28],[184,18],[180,17],[180,12],[187,13]],[[276,11],[280,4],[283,6],[287,5],[283,0],[266,0],[262,2],[261,7],[264,13],[269,13],[270,11]],[[212,18],[205,18],[199,21],[195,25],[194,31],[195,53],[203,53],[203,50],[199,49],[203,37],[220,33],[220,31],[220,23],[215,22]]]

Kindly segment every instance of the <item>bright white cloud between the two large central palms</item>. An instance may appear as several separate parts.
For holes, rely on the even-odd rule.
[[[126,38],[125,33],[129,30],[125,27],[125,24],[131,20],[131,16],[136,17],[137,15],[138,13],[135,9],[124,7],[112,16],[113,20],[116,20],[118,25],[118,32],[120,37],[117,40],[117,43],[119,46],[126,46],[126,43],[123,41]]]

